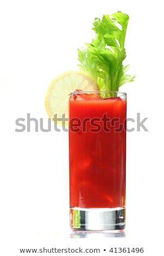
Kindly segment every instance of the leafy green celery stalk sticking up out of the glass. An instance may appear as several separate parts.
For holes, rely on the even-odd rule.
[[[129,65],[123,66],[126,57],[124,41],[129,16],[118,11],[94,20],[96,36],[91,44],[78,50],[79,68],[91,75],[100,90],[118,90],[122,84],[134,81],[135,76],[125,74]]]

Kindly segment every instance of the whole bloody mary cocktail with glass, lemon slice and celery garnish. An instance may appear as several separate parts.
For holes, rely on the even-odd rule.
[[[127,74],[129,64],[123,64],[128,22],[129,15],[121,11],[105,14],[102,19],[96,17],[92,28],[94,38],[78,49],[80,71],[64,72],[47,90],[46,111],[55,124],[67,123],[70,95],[72,229],[125,227],[127,103],[126,94],[118,90],[135,79],[135,75]]]

